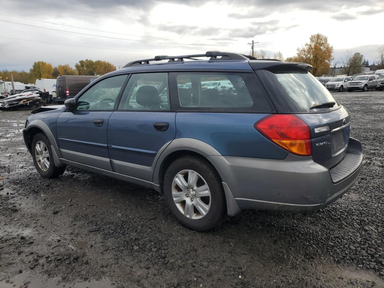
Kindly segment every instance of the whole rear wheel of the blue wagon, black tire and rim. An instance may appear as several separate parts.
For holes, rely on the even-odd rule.
[[[202,189],[204,185],[207,188]],[[170,212],[187,228],[211,230],[225,217],[227,208],[220,177],[205,159],[194,156],[176,159],[167,169],[163,189]]]

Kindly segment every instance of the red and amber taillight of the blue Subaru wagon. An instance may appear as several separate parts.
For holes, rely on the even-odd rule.
[[[298,156],[312,155],[310,127],[296,115],[271,114],[257,121],[254,126],[286,151]]]

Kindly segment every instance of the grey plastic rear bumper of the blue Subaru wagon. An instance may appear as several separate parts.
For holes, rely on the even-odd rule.
[[[305,211],[323,208],[351,188],[360,174],[362,149],[359,141],[350,138],[343,161],[330,170],[312,157],[293,154],[284,160],[208,159],[228,185],[239,209]]]

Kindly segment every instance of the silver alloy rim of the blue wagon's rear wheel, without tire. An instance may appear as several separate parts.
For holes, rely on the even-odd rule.
[[[172,182],[173,201],[185,217],[201,219],[209,212],[211,192],[204,178],[194,170],[182,170]]]

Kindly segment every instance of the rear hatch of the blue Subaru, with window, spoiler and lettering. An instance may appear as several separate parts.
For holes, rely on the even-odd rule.
[[[250,64],[254,69],[260,66]],[[347,153],[351,116],[308,72],[310,68],[301,63],[280,62],[255,72],[278,114],[295,114],[308,124],[313,161],[331,169]]]

